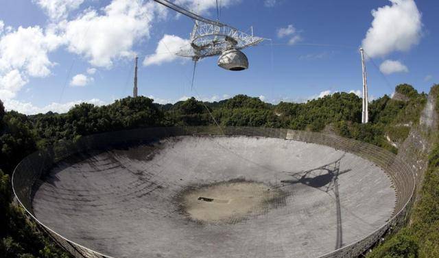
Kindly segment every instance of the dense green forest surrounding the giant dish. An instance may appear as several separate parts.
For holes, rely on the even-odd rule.
[[[393,97],[384,95],[370,103],[370,122],[364,125],[361,99],[345,92],[306,103],[277,105],[246,95],[215,103],[191,98],[174,105],[159,105],[139,96],[104,106],[82,103],[65,114],[32,116],[5,111],[0,101],[0,253],[5,258],[69,257],[39,233],[23,210],[12,203],[10,177],[14,167],[26,155],[51,144],[106,131],[217,122],[220,126],[324,131],[397,153],[412,126],[418,124],[425,103],[427,94],[401,84],[396,86]],[[439,145],[429,157],[421,194],[413,222],[376,248],[370,257],[439,257]]]

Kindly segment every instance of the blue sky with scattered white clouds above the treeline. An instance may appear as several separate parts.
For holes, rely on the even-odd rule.
[[[242,72],[222,70],[217,57],[202,60],[191,90],[191,60],[163,51],[160,42],[178,49],[193,21],[158,3],[2,0],[0,99],[26,114],[65,112],[81,101],[111,103],[132,94],[135,54],[139,93],[158,103],[188,96],[217,101],[248,94],[278,103],[337,91],[360,94],[361,46],[371,57],[372,98],[392,94],[398,83],[428,92],[439,81],[436,1],[220,2],[223,23],[242,31],[253,26],[255,35],[273,44],[245,49],[250,68]],[[176,3],[216,18],[215,0]]]

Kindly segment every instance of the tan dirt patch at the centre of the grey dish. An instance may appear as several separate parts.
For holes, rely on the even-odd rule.
[[[197,222],[235,223],[264,214],[285,202],[285,196],[264,183],[230,181],[186,190],[181,194],[180,207]]]

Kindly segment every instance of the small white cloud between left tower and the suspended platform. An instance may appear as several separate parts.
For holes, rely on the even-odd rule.
[[[145,57],[143,60],[144,66],[152,64],[163,64],[164,62],[172,62],[178,58],[176,53],[184,48],[189,47],[189,40],[185,40],[178,36],[167,35],[158,42],[156,53]]]

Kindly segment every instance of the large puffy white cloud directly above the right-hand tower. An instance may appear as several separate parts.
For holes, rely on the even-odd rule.
[[[408,51],[418,44],[421,32],[421,14],[414,0],[390,0],[372,10],[372,27],[362,45],[370,57],[383,57],[393,51]]]

